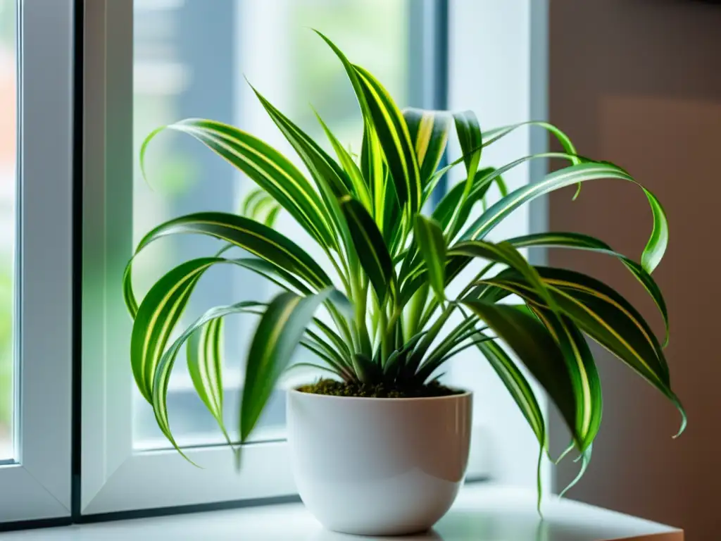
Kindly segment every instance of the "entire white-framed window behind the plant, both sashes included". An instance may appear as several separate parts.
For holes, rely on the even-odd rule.
[[[0,522],[71,516],[71,507],[77,518],[295,493],[282,390],[244,452],[239,475],[187,374],[174,374],[170,417],[203,470],[168,448],[138,397],[128,362],[130,318],[120,293],[138,236],[172,216],[234,211],[250,185],[203,146],[172,133],[149,147],[146,183],[138,147],[151,129],[198,116],[242,126],[292,158],[247,77],[312,136],[322,139],[309,102],[358,148],[361,119],[353,91],[307,27],[342,43],[400,105],[490,111],[494,124],[525,119],[534,110],[542,115],[531,100],[530,41],[518,39],[528,33],[531,7],[509,2],[509,17],[504,8],[485,4],[0,0],[0,105],[12,111],[18,104],[17,115],[0,119]],[[77,22],[83,27],[74,28]],[[508,43],[490,50],[488,35]],[[82,47],[74,50],[79,37]],[[454,62],[467,62],[468,50],[478,64],[472,69]],[[74,68],[80,88],[74,88]],[[515,84],[484,84],[494,78]],[[508,88],[514,92],[503,94]],[[81,116],[74,95],[83,97]],[[518,145],[534,145],[523,137],[512,143],[514,156]],[[74,182],[79,158],[82,176],[77,171]],[[527,182],[529,174],[521,170],[510,182]],[[525,232],[528,215],[519,216],[518,231]],[[279,220],[283,232],[303,242],[292,221],[282,214]],[[177,260],[213,247],[190,237],[167,240],[138,259],[139,291]],[[199,286],[188,315],[229,296],[272,293],[255,276],[218,269]],[[234,417],[252,325],[239,319],[227,327],[226,403]],[[462,361],[451,378],[478,392],[469,477],[492,474],[532,486],[536,447],[521,414],[501,385],[490,383],[492,375]],[[506,417],[506,411],[513,413]],[[506,453],[511,448],[521,450]],[[71,450],[79,468],[71,469]]]

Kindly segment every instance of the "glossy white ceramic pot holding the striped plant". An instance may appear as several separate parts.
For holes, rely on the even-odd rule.
[[[336,532],[403,535],[435,524],[468,463],[472,395],[355,398],[288,391],[298,493]]]

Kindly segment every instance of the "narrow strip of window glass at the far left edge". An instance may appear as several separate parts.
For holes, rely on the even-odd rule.
[[[0,462],[13,458],[16,0],[0,0]]]

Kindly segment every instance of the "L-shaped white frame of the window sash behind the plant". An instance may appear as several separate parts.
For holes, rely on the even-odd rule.
[[[131,322],[120,294],[133,250],[133,2],[84,7],[80,512],[292,494],[284,442],[249,445],[240,474],[225,446],[187,450],[202,470],[174,451],[133,450]]]

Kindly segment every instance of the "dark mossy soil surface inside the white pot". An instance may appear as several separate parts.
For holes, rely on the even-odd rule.
[[[301,392],[314,395],[332,395],[365,398],[420,398],[460,395],[461,390],[451,389],[438,382],[426,385],[386,386],[385,384],[363,384],[358,382],[344,383],[335,379],[319,379],[317,382],[298,387]]]

